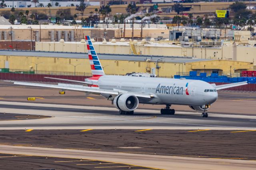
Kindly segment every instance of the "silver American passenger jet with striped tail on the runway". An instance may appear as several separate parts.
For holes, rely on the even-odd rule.
[[[17,85],[28,85],[37,87],[50,87],[65,90],[80,91],[86,95],[102,95],[112,101],[120,115],[132,115],[138,108],[139,103],[151,105],[166,105],[161,109],[162,115],[174,115],[175,110],[171,105],[187,105],[195,111],[202,111],[202,117],[208,117],[208,109],[218,99],[218,90],[240,85],[246,85],[247,81],[225,85],[209,84],[201,80],[171,79],[158,77],[135,77],[106,75],[92,45],[90,36],[85,36],[92,77],[85,81],[59,79],[45,77],[60,81],[82,83],[83,85],[72,85],[58,83],[58,85],[28,83],[12,81]]]

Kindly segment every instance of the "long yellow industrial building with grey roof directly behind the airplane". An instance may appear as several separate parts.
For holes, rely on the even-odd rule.
[[[189,71],[200,71],[220,75],[252,70],[253,63],[218,59],[194,59],[181,57],[151,57],[130,55],[99,55],[106,74],[125,75],[130,72],[155,73],[159,77],[186,75]],[[0,68],[10,70],[35,70],[36,73],[90,75],[91,69],[85,53],[57,53],[34,51],[1,51]],[[159,69],[157,69],[160,66]],[[232,69],[231,69],[232,68]],[[73,74],[74,75],[74,74]]]

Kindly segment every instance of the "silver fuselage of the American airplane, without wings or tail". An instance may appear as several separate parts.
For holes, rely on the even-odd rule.
[[[145,104],[202,106],[212,104],[218,98],[214,87],[200,80],[103,75],[98,79],[98,86],[100,89],[118,89],[155,96],[151,99],[138,97],[139,102]],[[211,92],[205,92],[206,89]]]

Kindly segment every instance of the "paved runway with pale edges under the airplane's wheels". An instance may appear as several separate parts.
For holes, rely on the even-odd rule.
[[[155,110],[138,109],[134,115],[119,115],[117,109],[51,105],[40,103],[0,102],[2,113],[45,115],[52,118],[23,121],[1,121],[0,129],[202,129],[254,130],[256,116],[210,114],[202,118],[200,113],[176,112],[160,115]]]

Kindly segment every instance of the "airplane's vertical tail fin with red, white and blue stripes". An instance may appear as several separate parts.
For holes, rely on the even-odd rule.
[[[85,40],[87,43],[88,56],[89,56],[89,61],[90,61],[91,69],[92,69],[92,77],[98,77],[98,76],[105,75],[105,73],[102,69],[102,66],[100,64],[98,55],[92,45],[90,36],[85,36]]]

